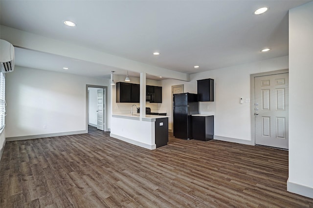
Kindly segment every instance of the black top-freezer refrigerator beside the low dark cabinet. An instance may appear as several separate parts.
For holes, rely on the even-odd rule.
[[[180,93],[173,97],[174,136],[192,139],[192,114],[199,113],[197,94]]]

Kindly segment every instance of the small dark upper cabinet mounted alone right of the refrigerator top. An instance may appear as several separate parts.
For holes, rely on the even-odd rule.
[[[214,79],[197,80],[198,101],[214,101]]]

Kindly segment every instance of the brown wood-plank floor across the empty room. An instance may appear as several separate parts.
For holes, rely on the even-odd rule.
[[[287,179],[288,151],[173,136],[150,151],[89,128],[7,142],[0,207],[312,208]]]

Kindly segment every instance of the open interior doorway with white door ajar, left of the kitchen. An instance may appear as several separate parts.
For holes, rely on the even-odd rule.
[[[107,87],[87,85],[86,128],[108,131]]]

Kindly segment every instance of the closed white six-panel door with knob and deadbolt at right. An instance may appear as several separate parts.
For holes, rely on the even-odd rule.
[[[255,144],[288,149],[288,73],[254,78]]]

